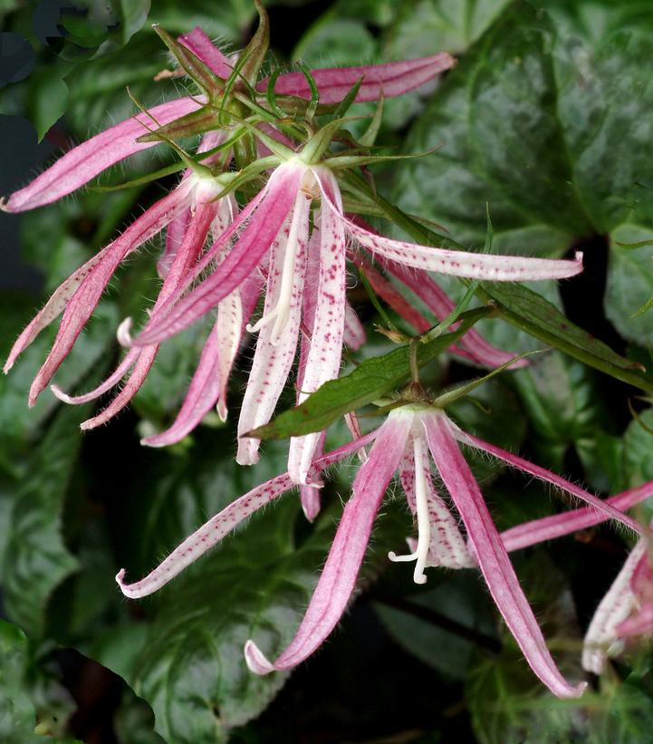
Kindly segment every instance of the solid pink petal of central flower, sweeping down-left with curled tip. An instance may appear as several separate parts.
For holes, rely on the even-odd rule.
[[[293,206],[301,178],[301,168],[280,166],[276,169],[268,182],[264,198],[260,199],[243,234],[225,260],[212,275],[185,296],[170,312],[153,315],[135,343],[138,345],[153,343],[178,333],[214,308],[220,300],[230,295],[238,285],[242,284],[254,271],[265,252],[269,250],[279,229],[283,226]],[[250,214],[244,209],[239,215],[237,224],[242,224],[245,217],[249,217]],[[235,229],[237,227],[234,227],[234,232]],[[226,233],[220,241],[225,239]],[[210,261],[209,256],[214,257],[215,252],[216,246],[207,251],[198,264],[198,269],[206,266]]]

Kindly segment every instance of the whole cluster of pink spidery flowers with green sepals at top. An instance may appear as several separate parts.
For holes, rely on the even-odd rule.
[[[83,403],[121,384],[108,406],[82,424],[82,429],[97,427],[139,391],[161,343],[208,318],[211,330],[176,420],[168,430],[143,440],[149,446],[166,446],[187,436],[214,407],[226,420],[230,374],[246,334],[256,333],[237,425],[236,459],[242,465],[259,459],[260,440],[249,434],[272,419],[295,361],[297,402],[302,403],[325,382],[338,378],[343,344],[356,350],[365,342],[362,324],[346,296],[352,266],[362,267],[374,292],[417,333],[426,333],[432,321],[407,300],[398,283],[443,320],[456,304],[432,274],[514,282],[562,279],[581,271],[581,255],[573,260],[497,256],[418,245],[373,230],[361,218],[365,209],[360,205],[367,204],[374,214],[374,200],[365,191],[365,179],[352,174],[383,158],[371,153],[367,139],[364,143],[353,139],[344,128],[344,114],[355,101],[382,101],[418,88],[452,67],[454,59],[438,53],[368,67],[274,73],[260,80],[267,22],[262,6],[258,8],[259,30],[245,51],[233,58],[220,53],[198,28],[177,40],[159,32],[199,93],[141,111],[101,132],[0,202],[9,212],[41,207],[71,194],[120,160],[160,144],[172,147],[181,161],[179,170],[183,169],[175,188],[66,279],[14,343],[5,372],[62,315],[53,347],[32,383],[30,405],[52,382],[120,264],[159,233],[165,233],[165,249],[157,263],[158,296],[138,332],[131,318],[117,328],[126,351],[115,371],[81,395],[67,394],[55,384],[52,390],[62,401]],[[323,119],[318,123],[319,116]],[[178,145],[188,135],[199,137],[192,155]],[[453,331],[458,323],[452,322]],[[450,351],[490,368],[511,360],[474,329],[461,335]],[[320,507],[322,471],[371,444],[293,642],[270,662],[249,641],[245,658],[250,669],[261,674],[290,669],[331,633],[350,601],[374,519],[398,472],[418,537],[408,539],[408,555],[390,553],[390,560],[414,561],[418,584],[426,582],[428,566],[477,566],[533,672],[556,695],[580,695],[584,685],[566,681],[558,671],[508,558],[509,550],[530,544],[533,535],[546,539],[562,534],[561,527],[555,523],[549,534],[549,523],[522,526],[521,532],[515,528],[500,535],[459,443],[581,498],[589,506],[572,513],[567,526],[583,518],[590,522],[612,518],[641,533],[642,528],[620,510],[639,495],[629,492],[619,503],[601,501],[460,430],[427,399],[397,402],[379,429],[365,436],[351,420],[354,440],[326,454],[323,431],[293,437],[287,473],[236,499],[135,584],[125,584],[121,571],[117,579],[123,593],[142,597],[156,591],[235,524],[296,485],[301,487],[306,516],[314,518]],[[434,468],[450,501],[438,493]],[[598,657],[588,661],[593,643],[650,628],[651,584],[642,538],[592,623],[588,669],[600,669]]]

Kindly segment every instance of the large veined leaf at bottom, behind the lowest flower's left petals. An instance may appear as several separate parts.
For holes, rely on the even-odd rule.
[[[297,503],[287,499],[159,597],[128,679],[152,705],[167,741],[226,741],[228,730],[263,710],[287,678],[257,677],[243,656],[248,638],[273,656],[290,642],[331,535],[318,533],[293,548]]]

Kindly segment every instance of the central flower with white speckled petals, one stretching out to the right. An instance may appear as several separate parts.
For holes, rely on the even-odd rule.
[[[178,333],[209,313],[252,275],[261,261],[269,263],[264,314],[250,326],[250,330],[260,333],[238,422],[241,440],[237,460],[244,465],[259,458],[259,440],[245,435],[267,423],[274,413],[293,364],[302,315],[309,333],[300,372],[299,401],[338,375],[346,317],[348,243],[363,246],[382,260],[391,261],[393,266],[468,278],[536,280],[562,278],[581,271],[581,255],[574,261],[559,261],[469,254],[418,246],[372,233],[344,215],[340,188],[328,168],[329,160],[312,163],[303,159],[304,153],[305,150],[290,152],[248,205],[246,214],[243,212],[207,251],[187,281],[188,293],[174,306],[153,313],[134,341],[148,345]],[[313,220],[318,227],[311,235],[311,203],[315,198],[321,199],[322,208],[319,219]],[[206,261],[236,234],[235,245],[225,260],[191,289]],[[308,284],[307,270],[312,272]],[[426,277],[427,287],[432,286],[429,282]],[[480,346],[475,343],[476,349]],[[501,353],[495,353],[495,360],[498,354]],[[318,432],[291,440],[289,472],[296,483],[308,483],[320,436]]]

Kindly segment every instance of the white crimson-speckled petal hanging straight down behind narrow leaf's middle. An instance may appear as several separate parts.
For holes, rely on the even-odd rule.
[[[319,173],[320,188],[326,190],[331,201],[342,210],[340,189],[331,172],[327,169],[314,169],[314,172],[316,177]],[[324,382],[334,380],[341,367],[345,324],[346,246],[341,222],[329,208],[322,209],[320,238],[317,302],[306,368],[298,396],[300,403]],[[320,436],[320,432],[316,431],[305,437],[291,439],[291,449],[301,450],[299,458],[291,456],[288,460],[288,471],[295,482],[306,483]]]

